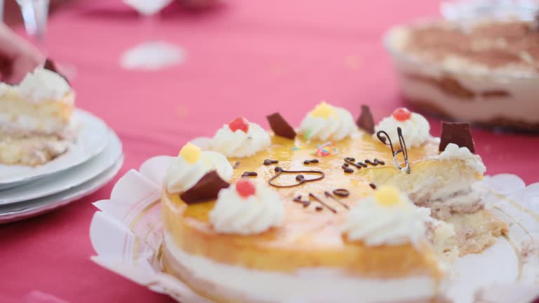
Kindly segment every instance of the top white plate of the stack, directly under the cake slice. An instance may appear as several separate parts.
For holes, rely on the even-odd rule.
[[[107,147],[111,130],[105,122],[81,109],[75,110],[73,119],[81,124],[81,129],[67,153],[36,168],[0,164],[0,190],[20,186],[40,177],[78,166],[97,156]]]

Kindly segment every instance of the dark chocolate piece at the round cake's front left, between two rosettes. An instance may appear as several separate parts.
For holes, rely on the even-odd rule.
[[[197,184],[194,184],[193,187],[187,189],[183,194],[180,194],[180,198],[182,198],[187,205],[206,202],[217,198],[219,191],[229,186],[230,184],[228,184],[228,182],[219,177],[217,171],[212,170],[204,175]]]

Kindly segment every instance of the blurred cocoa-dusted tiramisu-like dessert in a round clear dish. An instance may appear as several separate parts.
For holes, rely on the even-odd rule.
[[[539,130],[535,22],[418,22],[386,36],[404,97],[427,112],[486,126]]]

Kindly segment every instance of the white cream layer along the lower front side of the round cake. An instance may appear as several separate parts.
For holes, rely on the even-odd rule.
[[[214,295],[242,302],[417,302],[435,295],[436,282],[429,276],[360,278],[329,267],[305,268],[294,274],[259,271],[191,255],[178,248],[167,232],[164,238],[166,250],[190,277],[211,283],[215,287],[207,290]]]

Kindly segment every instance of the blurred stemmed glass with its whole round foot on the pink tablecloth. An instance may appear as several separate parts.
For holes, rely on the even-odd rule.
[[[166,41],[150,41],[155,34],[158,13],[173,0],[124,0],[134,8],[142,18],[142,39],[144,42],[127,50],[122,55],[120,64],[125,69],[162,69],[182,62],[185,50]]]

